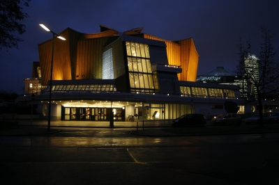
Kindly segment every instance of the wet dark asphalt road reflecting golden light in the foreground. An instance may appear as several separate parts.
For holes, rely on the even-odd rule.
[[[149,137],[61,129],[1,136],[1,184],[279,184],[278,133]]]

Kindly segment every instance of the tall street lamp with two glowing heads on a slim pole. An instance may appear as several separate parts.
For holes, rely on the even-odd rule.
[[[51,112],[51,108],[52,108],[52,71],[53,71],[54,38],[55,38],[55,35],[57,36],[57,38],[59,38],[61,40],[66,40],[66,38],[63,38],[63,37],[59,36],[58,34],[54,33],[53,31],[48,29],[47,26],[45,26],[44,24],[39,24],[39,25],[43,29],[45,29],[45,31],[50,31],[52,33],[52,62],[50,65],[50,99],[49,99],[49,106],[48,106],[48,123],[47,123],[47,131],[50,131],[50,112]]]

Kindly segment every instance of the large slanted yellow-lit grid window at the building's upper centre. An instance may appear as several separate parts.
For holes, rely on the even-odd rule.
[[[127,61],[132,93],[154,93],[149,46],[126,42]]]

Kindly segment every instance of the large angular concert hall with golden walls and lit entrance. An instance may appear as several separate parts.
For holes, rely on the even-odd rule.
[[[241,104],[239,87],[196,83],[199,54],[192,38],[169,41],[100,25],[100,33],[67,28],[54,38],[52,119],[174,119],[185,113],[216,115],[227,101]],[[24,79],[25,97],[47,119],[52,39],[38,45],[39,62]]]

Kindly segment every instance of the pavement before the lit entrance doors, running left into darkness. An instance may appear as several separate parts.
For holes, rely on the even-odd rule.
[[[143,136],[175,136],[175,134],[169,134],[161,129],[150,129],[151,127],[170,127],[169,121],[142,121],[135,120],[135,122],[114,122],[113,127],[110,126],[110,122],[107,121],[61,121],[51,120],[50,131],[47,131],[47,120],[19,120],[18,127],[15,129],[2,129],[0,130],[0,136],[29,136],[40,134],[55,134],[61,131],[56,127],[85,127],[85,128],[133,128],[133,133]],[[138,132],[135,130],[138,127]],[[148,130],[142,127],[149,128]]]

